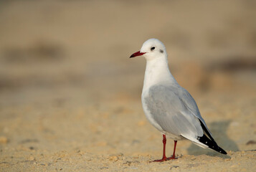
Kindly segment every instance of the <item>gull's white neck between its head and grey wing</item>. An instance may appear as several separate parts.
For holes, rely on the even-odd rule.
[[[143,91],[147,90],[152,85],[161,83],[167,83],[170,85],[176,85],[177,83],[171,75],[168,61],[166,59],[147,60]]]

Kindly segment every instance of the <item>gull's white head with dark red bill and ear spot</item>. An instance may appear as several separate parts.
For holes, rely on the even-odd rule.
[[[164,44],[158,39],[151,38],[143,43],[139,52],[131,54],[130,58],[136,56],[143,56],[146,60],[158,58],[167,60],[166,47],[164,47]]]

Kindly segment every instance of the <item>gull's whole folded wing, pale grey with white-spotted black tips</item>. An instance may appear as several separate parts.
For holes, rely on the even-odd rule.
[[[194,98],[184,88],[154,85],[150,87],[145,102],[153,119],[164,131],[181,135],[203,148],[225,153],[212,138]]]

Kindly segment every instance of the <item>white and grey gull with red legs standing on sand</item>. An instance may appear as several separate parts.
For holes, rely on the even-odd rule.
[[[141,50],[131,55],[146,58],[146,71],[141,102],[148,121],[163,135],[163,158],[176,159],[177,140],[191,140],[202,148],[227,154],[207,128],[194,98],[171,75],[166,47],[158,39],[148,39]],[[166,157],[166,136],[174,140],[174,152]]]

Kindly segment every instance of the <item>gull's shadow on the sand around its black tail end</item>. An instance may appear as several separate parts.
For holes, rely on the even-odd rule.
[[[211,123],[209,125],[209,130],[211,130],[213,138],[217,142],[219,147],[223,148],[225,151],[239,151],[237,144],[227,136],[227,128],[230,122],[230,120],[224,120],[221,122]],[[230,156],[228,155],[217,153],[210,149],[200,148],[194,143],[191,143],[187,151],[189,155],[194,156],[206,154],[207,156],[219,156],[221,158],[230,158]]]

